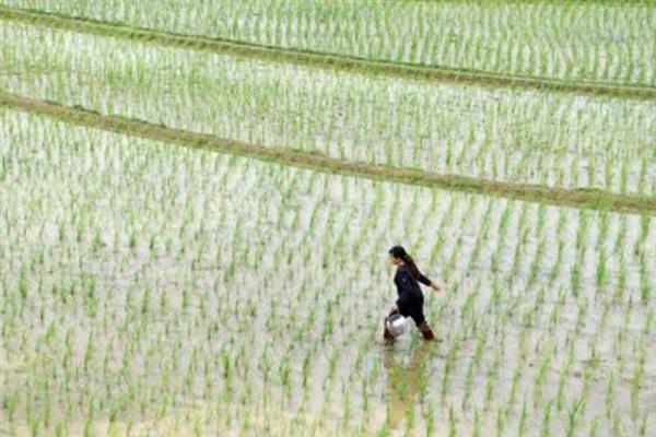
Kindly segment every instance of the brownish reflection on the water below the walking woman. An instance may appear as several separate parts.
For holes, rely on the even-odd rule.
[[[383,364],[387,373],[387,427],[397,429],[403,418],[410,418],[415,413],[418,394],[424,392],[427,379],[425,368],[430,356],[431,343],[420,343],[411,346],[412,356],[403,363],[405,351],[395,345],[384,347]],[[420,397],[423,398],[423,397]]]

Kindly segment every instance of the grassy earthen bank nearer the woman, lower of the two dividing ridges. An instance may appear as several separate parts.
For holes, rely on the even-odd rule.
[[[623,211],[656,215],[656,197],[618,194],[601,190],[566,190],[553,187],[500,182],[458,175],[440,175],[411,168],[380,166],[336,160],[321,154],[293,149],[265,147],[208,134],[167,128],[142,120],[103,116],[84,108],[72,108],[35,101],[0,91],[0,105],[49,116],[56,120],[141,137],[174,142],[191,147],[245,155],[262,161],[389,182],[452,189],[479,194],[506,197],[531,202],[570,205],[602,211]]]

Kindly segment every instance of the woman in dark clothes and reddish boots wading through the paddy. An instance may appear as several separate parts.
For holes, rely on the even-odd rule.
[[[397,267],[394,283],[397,286],[399,296],[390,314],[398,311],[401,316],[411,317],[424,340],[434,340],[435,334],[423,314],[423,293],[418,281],[436,292],[442,288],[419,271],[412,257],[401,246],[389,249],[389,261]],[[394,335],[387,330],[387,324],[385,326],[384,336],[386,340],[394,339]]]

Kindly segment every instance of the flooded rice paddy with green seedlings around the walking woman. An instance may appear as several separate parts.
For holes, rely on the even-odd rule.
[[[0,120],[2,435],[656,432],[653,216]]]

